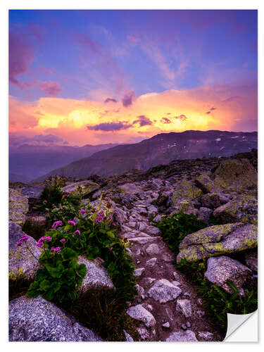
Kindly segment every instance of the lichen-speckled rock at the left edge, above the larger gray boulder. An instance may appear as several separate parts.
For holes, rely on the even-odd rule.
[[[25,214],[28,211],[27,197],[20,194],[15,189],[9,189],[9,221],[23,225]]]

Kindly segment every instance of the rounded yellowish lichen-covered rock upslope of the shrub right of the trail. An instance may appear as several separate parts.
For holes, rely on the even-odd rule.
[[[201,189],[196,187],[193,182],[182,180],[175,184],[175,190],[171,197],[171,203],[172,206],[178,206],[180,201],[186,201],[190,203],[201,195]]]

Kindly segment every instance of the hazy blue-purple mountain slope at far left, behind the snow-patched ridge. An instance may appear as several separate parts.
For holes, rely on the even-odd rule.
[[[33,146],[23,144],[9,147],[9,178],[27,182],[42,176],[55,168],[68,165],[80,158],[89,157],[93,153],[112,148],[117,144],[99,144],[92,146]],[[22,175],[20,177],[19,175]],[[12,182],[12,181],[11,181]],[[13,181],[15,182],[15,181]],[[22,181],[23,182],[23,181]]]

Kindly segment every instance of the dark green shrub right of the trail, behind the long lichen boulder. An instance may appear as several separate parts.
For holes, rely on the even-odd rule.
[[[179,244],[187,236],[206,227],[206,223],[193,214],[175,213],[158,222],[161,236],[173,253],[179,253]]]

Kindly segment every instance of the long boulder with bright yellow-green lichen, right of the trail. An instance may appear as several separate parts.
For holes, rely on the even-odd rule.
[[[180,243],[177,263],[185,258],[196,261],[202,258],[236,253],[253,249],[258,245],[256,225],[244,225],[241,222],[215,225],[188,234]]]

